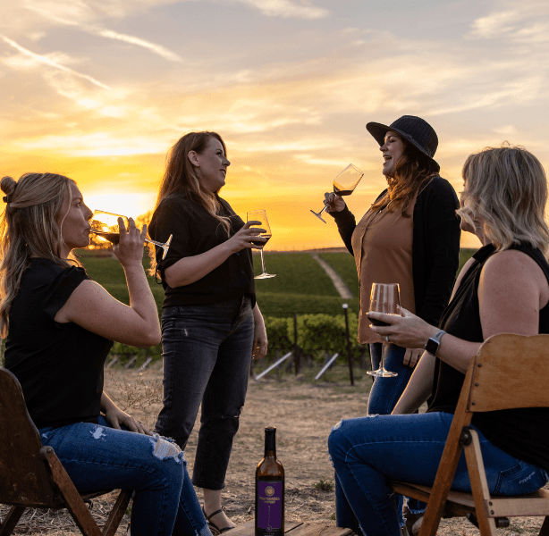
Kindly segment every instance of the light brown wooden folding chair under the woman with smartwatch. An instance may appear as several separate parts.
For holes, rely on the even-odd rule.
[[[496,528],[509,526],[509,517],[535,515],[545,515],[539,536],[549,536],[549,491],[491,497],[477,431],[469,428],[475,412],[549,407],[548,380],[549,335],[495,335],[480,347],[469,364],[433,487],[391,482],[397,493],[428,501],[419,536],[435,536],[442,516],[466,516],[482,536],[495,536]],[[451,490],[463,448],[472,493]]]

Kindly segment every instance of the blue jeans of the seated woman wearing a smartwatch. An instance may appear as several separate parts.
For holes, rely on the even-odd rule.
[[[372,415],[334,426],[328,448],[336,478],[363,534],[400,536],[398,501],[387,479],[433,485],[452,418],[446,413]],[[545,470],[506,454],[480,432],[479,440],[491,493],[531,493],[549,480]],[[452,489],[471,490],[464,453]],[[337,519],[337,524],[348,526],[341,524],[346,521],[352,523]]]

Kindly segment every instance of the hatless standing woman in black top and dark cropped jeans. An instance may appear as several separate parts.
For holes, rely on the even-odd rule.
[[[234,526],[221,507],[232,439],[248,387],[251,356],[266,355],[265,322],[256,304],[250,228],[218,196],[227,167],[223,139],[190,132],[168,156],[149,233],[173,235],[161,261],[164,406],[156,431],[184,448],[202,405],[192,482],[203,488],[210,527]]]

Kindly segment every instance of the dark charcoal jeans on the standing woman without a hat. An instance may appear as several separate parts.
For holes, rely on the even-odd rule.
[[[164,406],[158,433],[185,448],[202,404],[192,483],[222,490],[248,389],[254,321],[249,297],[162,313]]]

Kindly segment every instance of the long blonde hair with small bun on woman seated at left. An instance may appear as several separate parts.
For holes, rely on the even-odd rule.
[[[70,206],[72,182],[55,173],[25,173],[18,181],[12,177],[0,181],[6,203],[0,221],[1,337],[7,335],[13,298],[30,257],[43,257],[63,268],[78,264],[72,254],[62,258],[63,236],[56,222],[65,199]]]

